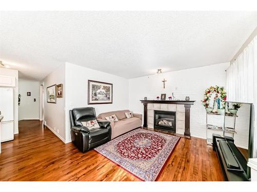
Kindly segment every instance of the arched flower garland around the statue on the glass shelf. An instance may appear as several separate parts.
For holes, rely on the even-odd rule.
[[[224,101],[226,101],[227,99],[227,93],[224,87],[218,87],[218,86],[215,86],[215,87],[211,86],[207,90],[205,90],[204,98],[203,100],[201,100],[205,108],[209,108],[210,98],[213,93],[217,93],[221,95],[220,98],[221,98],[222,108],[225,109],[226,103]]]

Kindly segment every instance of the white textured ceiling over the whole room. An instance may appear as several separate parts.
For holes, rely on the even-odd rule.
[[[1,12],[0,60],[41,80],[64,62],[133,78],[227,62],[257,12]]]

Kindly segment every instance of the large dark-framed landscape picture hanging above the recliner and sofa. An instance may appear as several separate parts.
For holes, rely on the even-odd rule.
[[[113,103],[113,84],[88,80],[88,104]]]

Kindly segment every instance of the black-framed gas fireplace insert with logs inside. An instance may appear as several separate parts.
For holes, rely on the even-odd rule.
[[[176,133],[176,112],[154,110],[154,128]]]

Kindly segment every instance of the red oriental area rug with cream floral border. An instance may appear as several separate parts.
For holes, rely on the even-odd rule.
[[[137,129],[95,150],[144,181],[155,181],[179,137]]]

